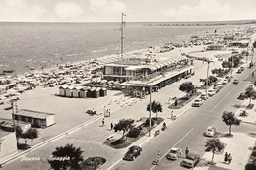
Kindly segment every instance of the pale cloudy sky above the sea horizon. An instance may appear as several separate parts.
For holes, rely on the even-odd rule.
[[[226,21],[256,19],[256,0],[0,0],[0,21]]]

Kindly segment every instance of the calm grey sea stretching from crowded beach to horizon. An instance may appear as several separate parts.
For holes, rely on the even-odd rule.
[[[0,73],[25,73],[67,62],[120,52],[120,23],[0,23]],[[186,41],[192,35],[238,28],[238,25],[175,26],[126,23],[124,52]]]

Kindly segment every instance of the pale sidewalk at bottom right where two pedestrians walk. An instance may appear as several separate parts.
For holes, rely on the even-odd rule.
[[[203,164],[205,165],[202,166],[202,164],[199,164],[198,167],[194,168],[194,170],[211,170],[217,167],[220,169],[224,168],[230,170],[244,169],[251,154],[255,138],[242,133],[232,134],[232,138],[220,138],[220,141],[227,144],[227,146],[222,154],[215,154],[214,162],[216,164],[214,166],[208,166],[205,164],[207,161],[212,160],[212,152],[206,152],[201,158],[201,161],[203,161]],[[225,152],[231,153],[232,155],[232,162],[229,165],[224,162]]]

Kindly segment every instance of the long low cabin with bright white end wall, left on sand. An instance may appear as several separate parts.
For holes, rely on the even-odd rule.
[[[34,127],[48,127],[55,124],[53,113],[27,109],[21,109],[18,113],[14,113],[14,119],[30,123]]]

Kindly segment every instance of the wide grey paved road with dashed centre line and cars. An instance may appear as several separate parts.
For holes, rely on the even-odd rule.
[[[220,135],[228,131],[228,127],[222,122],[222,113],[225,110],[236,112],[237,107],[235,105],[242,105],[244,103],[244,101],[237,100],[236,98],[250,84],[244,80],[250,76],[253,70],[245,69],[242,74],[234,75],[235,79],[240,80],[240,84],[233,85],[229,83],[228,85],[224,85],[224,88],[218,94],[206,100],[203,106],[189,109],[178,120],[173,122],[167,131],[160,132],[160,136],[143,144],[143,153],[135,161],[127,162],[120,160],[112,169],[185,169],[179,166],[182,159],[169,161],[166,159],[165,154],[173,146],[180,147],[183,150],[188,146],[190,151],[203,155],[205,149],[204,144],[208,139],[203,136],[204,131],[210,125],[217,127]],[[232,131],[243,133],[255,132],[255,125],[243,123],[238,127],[233,127]],[[159,150],[162,155],[161,164],[160,166],[154,166],[151,163],[157,159]]]

